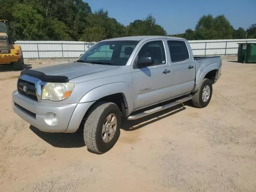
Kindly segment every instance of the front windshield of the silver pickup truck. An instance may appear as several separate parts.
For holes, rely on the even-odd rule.
[[[88,49],[78,62],[124,66],[138,41],[104,41]]]

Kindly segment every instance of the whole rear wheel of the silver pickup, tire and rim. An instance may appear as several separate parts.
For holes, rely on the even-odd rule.
[[[212,98],[212,82],[210,79],[204,79],[200,88],[193,95],[192,103],[199,108],[206,107]]]

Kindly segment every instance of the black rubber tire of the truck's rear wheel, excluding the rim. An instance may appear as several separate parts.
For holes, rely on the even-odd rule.
[[[202,99],[202,93],[203,93],[203,89],[206,85],[208,85],[210,87],[210,97],[208,98],[208,100],[206,102],[204,102]],[[198,108],[204,108],[209,104],[211,98],[212,98],[212,82],[210,79],[204,79],[201,86],[197,90],[197,92],[194,93],[193,98],[192,98],[192,103],[194,106],[196,106]]]

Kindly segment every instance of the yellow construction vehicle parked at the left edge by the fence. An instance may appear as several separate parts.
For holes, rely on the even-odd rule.
[[[11,64],[16,70],[22,69],[24,60],[19,45],[8,35],[8,21],[0,20],[0,65]]]

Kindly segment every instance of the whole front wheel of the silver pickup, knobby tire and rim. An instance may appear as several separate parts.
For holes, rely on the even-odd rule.
[[[98,102],[84,123],[84,142],[96,153],[105,153],[120,136],[121,113],[111,102]]]

